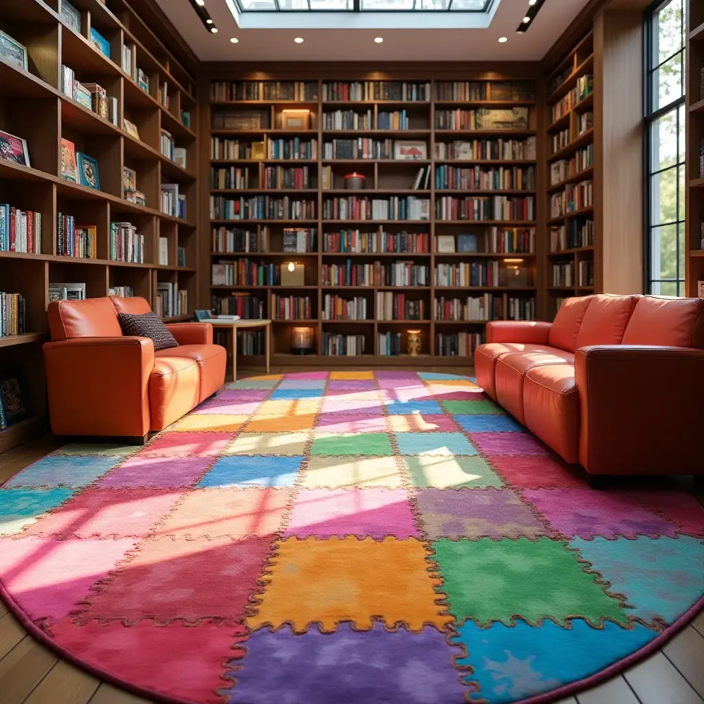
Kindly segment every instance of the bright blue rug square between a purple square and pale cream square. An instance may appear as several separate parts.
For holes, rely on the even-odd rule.
[[[272,455],[234,455],[220,458],[213,469],[196,486],[206,489],[212,486],[294,486],[303,457],[275,457]]]

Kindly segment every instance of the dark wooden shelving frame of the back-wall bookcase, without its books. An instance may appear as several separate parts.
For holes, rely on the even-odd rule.
[[[429,75],[427,68],[419,70],[417,73],[410,73],[412,69],[406,71],[404,75],[398,73],[383,74],[384,80],[387,81],[406,81],[408,83],[427,84],[430,90],[428,100],[424,101],[389,101],[389,100],[355,100],[355,101],[340,101],[340,100],[324,100],[323,87],[324,84],[334,81],[365,81],[368,80],[363,71],[358,70],[351,75],[348,69],[341,70],[340,73],[334,73],[334,69],[330,69],[326,73],[325,68],[318,68],[315,73],[312,73],[310,67],[301,70],[298,75],[291,69],[287,75],[281,73],[271,73],[270,75],[258,71],[256,81],[260,82],[259,95],[263,95],[263,87],[261,82],[266,80],[272,81],[296,81],[304,82],[313,87],[316,91],[318,99],[306,101],[291,101],[291,100],[275,100],[275,99],[247,99],[237,101],[234,99],[222,100],[211,99],[209,111],[201,113],[201,144],[208,145],[213,137],[220,139],[239,139],[241,142],[251,143],[259,141],[267,141],[268,139],[281,139],[282,137],[298,136],[301,141],[315,139],[317,141],[317,153],[315,158],[301,160],[282,160],[263,158],[263,160],[253,160],[250,158],[234,158],[222,159],[212,158],[214,153],[208,151],[210,158],[203,158],[201,173],[203,182],[210,186],[210,189],[203,194],[203,203],[201,204],[201,218],[203,227],[206,220],[208,227],[228,227],[229,229],[244,229],[256,230],[259,234],[263,227],[268,228],[269,239],[267,250],[264,253],[218,253],[213,251],[213,247],[209,246],[203,249],[201,259],[205,262],[206,258],[209,263],[219,262],[236,262],[238,259],[247,258],[250,261],[256,261],[268,265],[274,263],[279,265],[293,261],[294,263],[303,263],[305,265],[305,285],[302,287],[280,287],[280,286],[260,286],[260,287],[215,287],[210,284],[210,287],[203,287],[201,300],[205,305],[205,297],[207,296],[207,305],[215,306],[216,298],[227,292],[239,292],[246,294],[251,290],[253,295],[260,295],[265,298],[264,315],[271,318],[272,322],[272,356],[275,363],[291,364],[315,363],[324,364],[346,364],[354,363],[369,363],[375,365],[393,365],[393,364],[408,364],[410,359],[413,359],[414,364],[430,365],[437,364],[444,356],[439,355],[436,348],[437,334],[452,334],[456,332],[471,332],[483,334],[485,322],[481,320],[433,320],[433,303],[435,298],[445,296],[446,298],[462,298],[467,296],[479,296],[481,294],[491,294],[498,296],[503,301],[503,296],[515,297],[524,301],[532,298],[536,301],[538,292],[537,287],[537,260],[538,254],[536,251],[530,253],[489,253],[482,250],[482,235],[484,232],[491,230],[491,227],[498,228],[526,228],[536,229],[538,217],[536,209],[542,206],[536,198],[535,178],[539,170],[539,163],[534,153],[530,158],[516,159],[489,159],[489,158],[473,158],[473,159],[451,159],[438,158],[436,156],[436,144],[444,143],[451,144],[456,141],[472,141],[474,139],[515,139],[521,142],[529,137],[534,138],[534,142],[539,143],[542,139],[539,134],[539,110],[538,98],[536,97],[539,90],[539,81],[535,80],[534,75],[518,72],[517,75],[496,75],[496,73],[488,73],[486,71],[475,71],[472,75],[472,69],[465,73],[455,71],[449,72],[448,77],[440,72],[436,75]],[[211,71],[210,75],[203,80],[201,84],[201,92],[205,95],[210,95],[211,82],[213,81],[228,81],[238,84],[251,82],[253,73],[241,73],[237,77],[232,77],[232,71]],[[377,72],[375,80],[380,80],[382,75]],[[439,76],[443,76],[443,80],[439,80]],[[491,78],[487,79],[488,76]],[[487,99],[482,100],[447,100],[439,99],[437,92],[441,82],[466,81],[466,82],[481,82],[488,86]],[[507,82],[522,84],[524,87],[530,86],[533,96],[530,99],[520,97],[517,99],[491,99],[491,84],[496,87],[505,86]],[[529,110],[529,125],[526,129],[520,130],[448,130],[439,129],[436,127],[436,114],[439,110],[477,110],[480,108],[513,108],[522,107]],[[270,127],[258,127],[256,130],[225,130],[218,123],[218,130],[207,130],[207,127],[213,125],[215,115],[222,114],[223,111],[249,111],[259,109],[264,111],[268,116],[268,124]],[[284,109],[306,109],[310,111],[310,125],[307,129],[296,132],[294,130],[282,130],[281,120],[282,111]],[[351,129],[326,129],[323,116],[325,113],[334,111],[354,111],[358,114],[367,113],[370,111],[372,115],[371,124],[365,125],[366,129],[351,130]],[[408,117],[407,129],[382,130],[379,129],[379,115],[384,112],[406,111]],[[339,125],[337,125],[339,127]],[[426,145],[426,158],[419,158],[413,161],[401,161],[394,158],[329,158],[325,153],[325,143],[332,142],[333,139],[391,139],[394,141],[413,140],[424,142]],[[536,150],[538,146],[536,144]],[[201,153],[205,154],[206,149]],[[303,167],[309,168],[308,188],[305,189],[265,189],[263,180],[264,170],[270,166],[284,167]],[[222,189],[214,188],[210,181],[210,168],[249,168],[248,187],[244,189]],[[530,184],[529,188],[508,188],[508,189],[439,189],[436,188],[435,174],[436,169],[442,166],[456,168],[479,168],[488,170],[491,168],[532,168],[534,175],[534,183]],[[329,168],[334,176],[332,187],[322,188],[323,170]],[[415,176],[420,168],[430,169],[430,178],[427,187],[421,185],[419,189],[413,189]],[[363,191],[353,191],[344,189],[343,177],[349,172],[359,172],[365,175],[365,188]],[[254,183],[254,185],[253,185]],[[222,185],[222,184],[220,184]],[[285,195],[291,196],[291,199],[303,199],[314,201],[316,205],[315,218],[309,220],[222,220],[222,218],[206,218],[210,203],[210,196],[222,196],[226,199],[237,199],[239,197],[249,198],[251,196],[263,195],[279,198]],[[407,196],[416,196],[420,199],[428,199],[430,202],[429,218],[427,220],[334,220],[331,218],[323,218],[323,205],[325,201],[341,198],[345,196],[360,196],[370,199],[384,199],[389,196],[398,196],[406,198]],[[531,220],[441,220],[436,213],[436,203],[443,196],[456,196],[459,199],[472,196],[505,196],[513,197],[531,197],[533,199],[534,217]],[[282,231],[284,227],[315,227],[317,230],[317,246],[315,251],[307,253],[283,253],[282,250]],[[323,239],[329,233],[340,232],[341,230],[359,230],[360,232],[377,232],[379,235],[382,232],[399,233],[406,231],[408,233],[425,233],[429,237],[429,251],[423,252],[408,252],[408,253],[345,253],[345,252],[329,252],[324,251]],[[442,235],[457,234],[477,234],[479,240],[480,251],[474,253],[440,253],[436,251],[437,237]],[[456,239],[455,239],[456,241]],[[537,243],[538,235],[534,235],[534,241]],[[459,264],[459,263],[482,263],[485,264],[491,261],[498,261],[502,270],[505,268],[503,260],[506,258],[517,258],[522,260],[522,267],[526,270],[527,283],[522,287],[508,286],[465,286],[465,287],[440,287],[435,284],[434,270],[439,263],[443,264]],[[379,261],[384,264],[394,263],[396,261],[408,261],[415,265],[424,265],[428,267],[429,281],[425,286],[415,287],[384,287],[379,285],[370,286],[337,286],[327,285],[322,283],[322,268],[324,265],[342,264],[346,260],[350,260],[352,265],[356,264],[371,264]],[[201,271],[201,287],[202,282],[206,277],[210,277],[210,266]],[[503,276],[503,273],[502,273]],[[424,304],[424,320],[382,320],[376,306],[377,292],[391,291],[397,293],[402,291],[406,294],[407,300],[422,301]],[[312,315],[310,320],[277,320],[276,311],[272,309],[270,301],[271,294],[287,294],[291,296],[310,296],[312,303]],[[334,294],[343,296],[346,299],[352,299],[356,296],[362,296],[367,301],[367,320],[324,320],[323,307],[326,294]],[[315,354],[313,356],[296,356],[291,355],[291,329],[293,327],[310,327],[313,329],[315,336]],[[408,329],[421,329],[422,348],[420,356],[409,358],[406,354],[398,356],[382,355],[379,349],[378,335],[383,332],[401,332],[401,352],[406,352],[406,336]],[[325,333],[343,334],[343,335],[363,335],[365,339],[365,353],[358,356],[328,356],[324,352],[322,344],[323,334]],[[257,362],[258,356],[250,358],[250,361]],[[467,363],[471,363],[471,357],[465,358]],[[246,358],[242,360],[246,363]]]

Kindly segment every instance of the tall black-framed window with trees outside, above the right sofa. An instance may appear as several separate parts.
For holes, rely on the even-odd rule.
[[[662,296],[685,295],[685,13],[660,0],[646,17],[647,279]]]

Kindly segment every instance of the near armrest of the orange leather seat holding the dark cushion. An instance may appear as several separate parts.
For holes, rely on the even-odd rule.
[[[51,429],[57,435],[149,432],[148,337],[77,337],[44,344]]]

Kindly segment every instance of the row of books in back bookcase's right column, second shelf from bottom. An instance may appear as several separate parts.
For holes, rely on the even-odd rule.
[[[438,322],[486,322],[488,320],[535,320],[535,298],[508,294],[435,298],[433,318]]]

